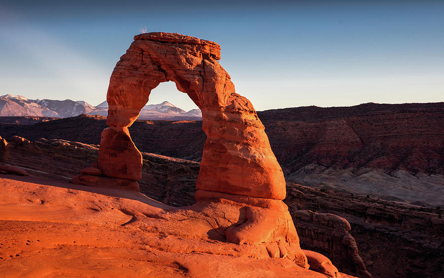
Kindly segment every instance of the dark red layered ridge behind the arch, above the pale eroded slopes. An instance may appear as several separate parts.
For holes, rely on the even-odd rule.
[[[321,168],[368,167],[385,172],[404,169],[412,174],[444,174],[444,103],[299,107],[262,111],[258,116],[287,175],[312,163]],[[10,118],[0,119],[0,131],[6,139],[23,135],[31,140],[44,137],[98,144],[97,131],[106,126],[106,118],[97,116],[15,127],[5,124]],[[67,126],[71,129],[67,130]],[[200,129],[199,121],[136,121],[130,127],[142,151],[196,161],[201,159],[205,142]],[[89,136],[89,132],[85,133],[88,130],[95,130],[96,135]],[[146,132],[149,138],[142,136]],[[182,135],[175,138],[179,141],[174,153],[168,138],[179,132]],[[149,143],[144,144],[144,140]]]

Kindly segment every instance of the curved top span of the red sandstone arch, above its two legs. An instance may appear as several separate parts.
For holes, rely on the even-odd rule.
[[[201,109],[225,106],[235,92],[230,76],[217,60],[219,44],[173,33],[134,37],[110,79],[107,123],[130,126],[160,82],[173,81]]]

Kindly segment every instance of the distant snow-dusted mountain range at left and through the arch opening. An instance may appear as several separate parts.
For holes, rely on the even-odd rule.
[[[29,99],[21,95],[0,96],[0,116],[39,116],[54,118],[69,118],[81,114],[108,115],[108,102],[104,101],[92,106],[85,101]],[[148,104],[140,112],[139,119],[202,119],[200,109],[188,112],[164,101],[159,104]]]

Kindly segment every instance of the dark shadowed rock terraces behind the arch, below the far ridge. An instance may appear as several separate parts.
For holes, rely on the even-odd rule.
[[[98,151],[97,146],[63,140],[11,142],[8,146],[8,163],[24,167],[34,177],[63,180],[64,176],[65,181],[96,161]],[[143,156],[142,193],[172,206],[195,203],[199,163],[147,153]],[[48,169],[54,172],[48,173]],[[301,247],[326,255],[343,273],[366,277],[359,274],[363,270],[359,260],[355,261],[358,249],[373,277],[439,277],[443,273],[442,210],[333,191],[323,193],[291,183],[287,183],[285,202]],[[320,217],[301,217],[306,210],[318,212]],[[350,231],[341,217],[350,222]]]

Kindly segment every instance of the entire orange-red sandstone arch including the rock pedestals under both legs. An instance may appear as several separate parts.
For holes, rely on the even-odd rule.
[[[98,168],[84,170],[72,182],[139,190],[134,183],[142,178],[143,159],[128,127],[148,102],[151,90],[160,82],[174,81],[202,111],[207,140],[194,209],[202,214],[214,211],[216,222],[208,235],[223,235],[221,239],[238,244],[264,244],[268,256],[308,268],[282,201],[286,196],[282,169],[253,105],[235,93],[230,76],[218,63],[220,49],[215,42],[180,34],[135,36],[111,75],[110,127],[102,132]]]

